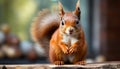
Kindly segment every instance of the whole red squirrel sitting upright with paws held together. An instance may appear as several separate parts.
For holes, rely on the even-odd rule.
[[[49,59],[55,65],[85,64],[87,44],[80,24],[79,0],[73,12],[64,12],[59,3],[59,15],[48,10],[40,12],[31,27],[31,34],[43,47],[49,46]]]

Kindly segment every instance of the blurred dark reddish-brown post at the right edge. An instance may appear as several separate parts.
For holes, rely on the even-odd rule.
[[[101,1],[101,53],[108,61],[120,60],[120,0]]]

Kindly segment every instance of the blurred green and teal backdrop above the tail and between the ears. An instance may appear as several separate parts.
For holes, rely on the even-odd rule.
[[[77,0],[0,0],[0,25],[6,23],[22,40],[30,40],[30,25],[42,9],[58,9],[58,1],[65,10],[73,11]]]

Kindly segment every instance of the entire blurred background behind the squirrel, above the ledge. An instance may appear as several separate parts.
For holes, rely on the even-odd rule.
[[[31,39],[30,26],[42,9],[73,11],[77,0],[0,0],[0,64],[49,63]],[[120,0],[80,0],[88,43],[87,62],[120,60]]]

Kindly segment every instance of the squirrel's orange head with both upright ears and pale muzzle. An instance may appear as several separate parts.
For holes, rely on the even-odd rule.
[[[60,10],[60,31],[67,35],[73,35],[80,31],[80,7],[79,0],[73,12],[64,12],[62,4],[59,3]]]

